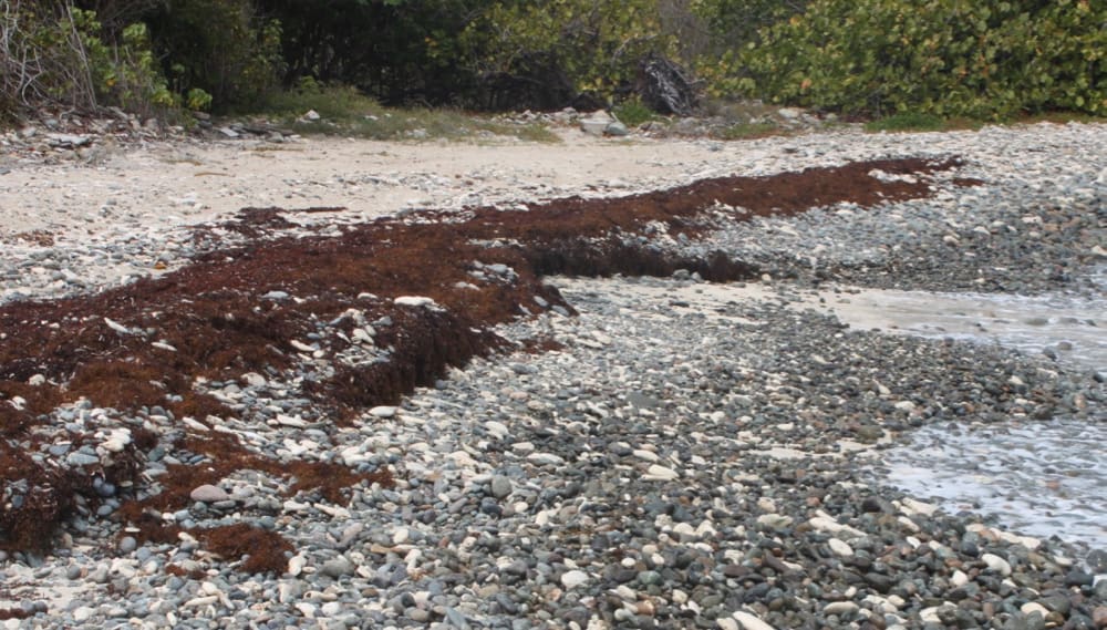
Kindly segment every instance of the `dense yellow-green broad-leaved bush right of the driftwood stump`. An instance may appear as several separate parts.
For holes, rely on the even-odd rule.
[[[714,87],[890,114],[1107,113],[1107,3],[816,0],[723,56]]]

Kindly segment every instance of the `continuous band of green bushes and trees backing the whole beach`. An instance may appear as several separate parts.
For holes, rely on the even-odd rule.
[[[659,56],[716,95],[846,113],[1107,114],[1105,51],[1103,0],[0,0],[0,116],[241,111],[303,80],[384,104],[618,105]]]

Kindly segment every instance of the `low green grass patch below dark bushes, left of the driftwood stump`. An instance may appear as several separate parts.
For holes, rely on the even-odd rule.
[[[306,114],[315,112],[318,120]],[[303,135],[341,135],[369,140],[482,140],[494,136],[530,142],[559,142],[537,123],[493,121],[457,110],[385,107],[348,86],[311,83],[276,94],[265,113]]]

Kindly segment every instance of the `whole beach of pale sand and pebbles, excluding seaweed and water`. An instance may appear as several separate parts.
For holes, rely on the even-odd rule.
[[[210,157],[203,144],[165,143],[95,164],[9,147],[0,163],[0,304],[81,299],[217,257],[248,240],[218,227],[246,206],[346,208],[286,215],[281,238],[325,239],[376,217],[415,223],[424,210],[448,221],[472,206],[526,213],[538,202],[708,177],[884,158],[960,162],[932,178],[869,174],[924,180],[930,193],[918,198],[742,220],[727,218],[742,208],[720,204],[708,209],[710,230],[625,236],[680,259],[723,252],[756,273],[731,283],[689,269],[546,277],[565,307],[536,297],[490,328],[530,351],[475,355],[343,422],[314,409],[303,383],[333,368],[328,340],[350,330],[342,361],[390,361],[382,335],[399,330],[399,318],[365,309],[319,320],[289,340],[293,368],[190,383],[235,416],[177,417],[168,403],[124,411],[87,399],[46,410],[38,442],[8,435],[9,446],[33,443],[38,463],[66,469],[110,467],[116,454],[135,453],[142,482],[102,478],[95,500],[75,499],[49,548],[0,551],[4,627],[1107,628],[1107,530],[1095,523],[1107,514],[1107,486],[1097,483],[1107,483],[1104,366],[1066,362],[1070,349],[1055,343],[1032,352],[889,334],[819,308],[860,288],[1061,292],[1103,303],[1107,126],[847,127],[728,143],[565,133],[565,144],[548,147],[300,140],[268,152],[214,142]],[[259,157],[268,153],[278,157]],[[185,154],[194,163],[156,157]],[[236,173],[251,161],[260,165]],[[297,161],[311,176],[290,185]],[[413,163],[418,177],[404,172]],[[218,188],[158,173],[225,166]],[[468,281],[510,285],[519,273],[482,264]],[[265,302],[298,299],[280,293]],[[441,309],[422,296],[394,306]],[[97,326],[122,338],[141,333],[102,319]],[[1069,324],[1094,338],[1107,318],[1089,311]],[[1026,481],[1005,492],[1057,493],[1051,475],[1072,471],[1085,488],[1075,500],[1093,515],[1079,540],[1063,528],[1020,528],[983,502],[940,504],[925,483],[904,490],[887,477],[898,462],[889,454],[920,432],[1017,427],[1014,440],[1033,443],[1035,423],[1056,422],[1073,427],[1084,456],[1044,453],[1042,483],[1021,471]],[[138,441],[139,426],[153,437]],[[180,466],[210,464],[186,447],[194,433],[234,436],[267,461],[362,477],[335,495],[294,489],[298,479],[279,471],[228,468],[192,488],[184,505],[146,509],[175,528],[151,536],[121,510],[168,488]],[[942,484],[975,474],[965,457],[938,464]],[[30,500],[21,481],[2,479],[4,509]],[[203,534],[242,524],[288,544],[276,567],[244,570],[249,550],[220,554]]]

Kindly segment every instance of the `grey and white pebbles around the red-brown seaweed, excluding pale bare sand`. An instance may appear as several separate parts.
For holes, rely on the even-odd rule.
[[[175,415],[169,402],[131,415],[91,401],[45,410],[54,426],[86,441],[64,450],[51,442],[43,457],[133,459],[146,478],[131,488],[105,487],[100,477],[92,489],[102,500],[77,500],[50,550],[4,552],[9,603],[0,617],[13,628],[1105,628],[1107,580],[1094,572],[1107,568],[1082,564],[1061,539],[1008,533],[971,512],[944,514],[861,469],[924,424],[1105,422],[1103,375],[1002,349],[855,331],[792,308],[798,293],[828,282],[1095,290],[1079,270],[1105,256],[1107,156],[1097,148],[1105,144],[1103,125],[1037,125],[723,145],[711,175],[876,157],[960,156],[964,164],[938,175],[870,169],[877,182],[928,189],[872,207],[847,200],[743,216],[743,204],[716,199],[706,223],[684,229],[660,219],[615,224],[573,241],[578,260],[610,255],[603,244],[633,248],[617,254],[664,255],[666,265],[722,252],[756,268],[745,279],[764,293],[691,308],[682,293],[717,289],[702,280],[718,269],[710,265],[665,268],[665,278],[556,278],[552,288],[528,289],[539,293],[501,296],[506,304],[526,298],[527,310],[541,313],[493,329],[519,350],[504,343],[483,358],[475,352],[464,370],[341,422],[283,370],[189,383],[241,417],[215,407],[193,410],[221,420]],[[702,166],[686,183],[702,178]],[[418,226],[430,216],[403,220]],[[322,247],[358,225],[342,213],[239,219],[242,229],[225,223],[197,231],[195,249],[169,262],[215,265],[220,252],[239,251],[223,249],[240,247],[236,239],[249,244],[273,229],[303,242],[320,238],[311,247]],[[260,233],[248,234],[251,226]],[[159,238],[139,233],[120,244],[153,251],[163,249]],[[50,244],[25,247],[56,262]],[[74,260],[53,269],[54,288],[25,290],[89,290],[81,279],[95,271],[94,259]],[[3,261],[6,287],[18,291],[28,282],[23,262]],[[523,290],[538,280],[528,262],[551,265],[549,257],[487,259],[465,282]],[[302,297],[266,296],[266,309]],[[332,330],[360,340],[345,359],[386,359],[381,350],[402,347],[403,309],[439,313],[415,317],[412,327],[446,321],[435,318],[452,312],[449,296],[435,298],[403,296],[395,312],[364,308],[344,323],[320,321],[315,337],[297,338],[301,358],[291,364],[301,380],[323,371]],[[121,344],[145,334],[122,319],[95,326]],[[60,323],[82,334],[93,327]],[[10,406],[11,392],[7,399]],[[238,422],[255,415],[258,425]],[[143,432],[116,431],[124,425]],[[288,476],[259,459],[223,468],[194,434],[234,436],[242,457],[312,467]],[[27,437],[7,438],[11,446]],[[205,467],[215,476],[203,484],[200,476],[174,479]],[[343,472],[352,476],[297,487],[310,475]],[[17,497],[28,500],[19,478],[3,482],[7,510]],[[138,495],[157,496],[154,486],[188,486],[192,496],[126,510]],[[228,529],[242,524],[251,529]],[[256,536],[255,546],[220,545],[213,531]],[[242,570],[259,558],[268,564]]]

